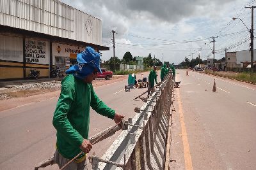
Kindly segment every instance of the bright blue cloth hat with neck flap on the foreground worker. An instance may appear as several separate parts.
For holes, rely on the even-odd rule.
[[[100,69],[100,54],[87,46],[83,52],[77,53],[77,62],[75,66],[67,69],[66,74],[73,74],[77,78],[84,79],[86,76],[93,73],[94,69],[101,72]]]

